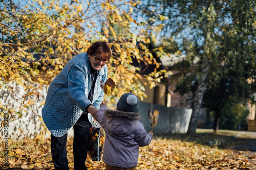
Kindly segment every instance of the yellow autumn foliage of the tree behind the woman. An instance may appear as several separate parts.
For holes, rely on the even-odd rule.
[[[109,77],[116,83],[116,96],[133,91],[143,99],[143,86],[154,87],[168,76],[166,70],[157,70],[160,63],[148,49],[148,44],[155,41],[154,32],[160,31],[162,25],[147,27],[146,20],[134,17],[134,8],[140,1],[84,2],[0,2],[0,88],[13,92],[14,99],[13,84],[24,86],[26,92],[22,99],[17,99],[17,108],[0,103],[2,120],[4,112],[10,117],[22,117],[41,96],[37,89],[49,85],[73,56],[87,52],[97,40],[108,42],[113,49],[108,67]],[[119,28],[125,32],[119,33]],[[154,52],[158,57],[164,54],[161,48]],[[142,77],[134,60],[152,64],[156,69]]]

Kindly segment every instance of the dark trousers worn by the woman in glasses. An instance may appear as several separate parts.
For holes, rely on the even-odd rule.
[[[88,151],[88,141],[90,136],[90,128],[92,125],[90,122],[77,121],[73,126],[74,128],[74,143],[73,143],[73,152],[74,152],[74,169],[75,170],[84,170],[87,169],[85,162],[87,158]],[[51,136],[51,151],[52,151],[52,160],[54,163],[55,169],[69,169],[69,162],[67,158],[67,137],[68,133],[61,137]]]

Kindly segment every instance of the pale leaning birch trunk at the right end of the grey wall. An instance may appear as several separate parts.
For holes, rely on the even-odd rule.
[[[201,79],[198,82],[198,87],[193,99],[193,106],[192,106],[192,114],[187,130],[187,135],[189,136],[195,136],[196,135],[196,130],[197,130],[197,122],[198,122],[198,115],[200,113],[201,105],[202,105],[202,100],[203,100],[203,95],[206,90],[206,85],[207,85],[207,72],[208,72],[209,66],[206,66],[202,70],[202,75]]]

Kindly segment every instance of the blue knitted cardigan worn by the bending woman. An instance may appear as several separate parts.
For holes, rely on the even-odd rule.
[[[87,53],[73,57],[51,82],[42,108],[42,119],[49,131],[56,137],[65,135],[77,122],[86,107],[93,104],[99,108],[104,92],[100,81],[108,79],[108,68],[104,65],[98,72],[92,103],[87,99],[92,82]],[[88,113],[89,121],[92,116]]]

